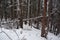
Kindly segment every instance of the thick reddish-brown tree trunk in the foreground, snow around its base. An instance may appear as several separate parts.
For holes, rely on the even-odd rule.
[[[47,37],[47,18],[46,18],[46,12],[47,12],[47,0],[44,0],[44,12],[43,12],[43,19],[42,19],[42,30],[41,30],[41,36]]]

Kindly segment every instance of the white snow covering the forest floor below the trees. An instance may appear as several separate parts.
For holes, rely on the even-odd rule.
[[[6,27],[7,25],[0,26]],[[48,32],[47,39],[45,39],[41,37],[41,30],[23,24],[23,29],[0,28],[0,40],[60,40],[60,35],[55,36]]]

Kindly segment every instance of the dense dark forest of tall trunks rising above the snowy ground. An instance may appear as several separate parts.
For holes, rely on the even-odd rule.
[[[23,22],[40,29],[41,36],[48,32],[58,35],[60,33],[60,0],[0,0],[0,20],[17,20],[18,28],[23,28]]]

